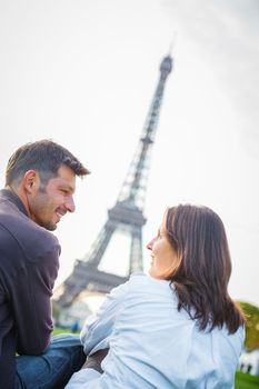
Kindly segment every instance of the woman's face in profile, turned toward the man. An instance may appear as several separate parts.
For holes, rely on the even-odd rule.
[[[151,251],[151,266],[149,275],[157,279],[170,279],[178,263],[177,253],[166,235],[166,217],[158,230],[157,236],[147,245]]]

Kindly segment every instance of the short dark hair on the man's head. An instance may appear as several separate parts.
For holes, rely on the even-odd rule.
[[[43,139],[21,146],[10,157],[6,170],[6,187],[24,174],[27,170],[34,169],[44,179],[57,177],[61,164],[68,166],[76,176],[84,177],[89,170],[64,147]]]

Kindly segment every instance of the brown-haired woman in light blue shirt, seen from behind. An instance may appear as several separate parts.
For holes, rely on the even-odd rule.
[[[103,373],[82,369],[66,388],[233,388],[245,316],[228,295],[225,227],[209,208],[169,208],[149,276],[114,288],[81,331],[86,355],[109,348]]]

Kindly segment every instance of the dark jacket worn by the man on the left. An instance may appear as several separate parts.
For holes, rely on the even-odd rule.
[[[0,387],[14,388],[16,352],[41,355],[52,332],[57,238],[33,222],[20,199],[0,191]]]

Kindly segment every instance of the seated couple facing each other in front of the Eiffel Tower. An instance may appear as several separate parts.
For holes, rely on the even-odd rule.
[[[76,176],[88,173],[49,140],[22,146],[8,162],[0,191],[0,387],[233,388],[245,316],[227,291],[225,227],[206,207],[168,208],[147,246],[149,275],[113,289],[80,340],[51,340],[60,246],[47,230],[74,211]]]

